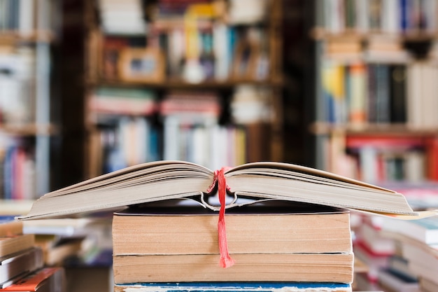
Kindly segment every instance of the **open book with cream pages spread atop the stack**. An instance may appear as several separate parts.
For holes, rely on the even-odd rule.
[[[66,217],[174,198],[194,199],[220,210],[212,197],[226,183],[231,208],[260,200],[290,200],[376,214],[418,216],[400,193],[318,169],[282,162],[251,162],[212,171],[183,161],[155,161],[97,176],[43,195],[29,214],[17,217]],[[219,189],[219,191],[218,191]]]

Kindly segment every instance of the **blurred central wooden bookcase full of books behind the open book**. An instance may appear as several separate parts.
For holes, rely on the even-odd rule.
[[[97,1],[88,175],[158,159],[281,160],[280,5]]]

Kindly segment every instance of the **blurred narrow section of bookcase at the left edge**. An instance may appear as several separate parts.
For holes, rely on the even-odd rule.
[[[45,0],[0,2],[2,199],[33,200],[50,188],[50,46],[56,8]]]

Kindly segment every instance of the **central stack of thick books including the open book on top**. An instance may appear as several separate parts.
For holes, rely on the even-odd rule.
[[[309,167],[213,172],[164,160],[48,193],[19,219],[104,210],[114,211],[115,291],[351,291],[350,210],[435,215],[393,190]]]

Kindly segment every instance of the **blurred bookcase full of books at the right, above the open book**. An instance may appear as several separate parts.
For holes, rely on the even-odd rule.
[[[378,7],[374,14],[367,9],[352,12],[359,6],[367,8],[365,1],[343,2],[339,11],[344,14],[331,10],[334,2],[315,1],[315,22],[309,30],[316,72],[313,123],[308,129],[314,141],[313,165],[364,180],[362,175],[369,170],[360,162],[362,150],[374,153],[378,161],[372,164],[383,169],[386,158],[396,156],[399,167],[407,167],[403,166],[404,157],[415,153],[423,165],[417,172],[423,173],[423,180],[435,180],[433,141],[438,123],[430,111],[435,108],[435,98],[428,97],[436,84],[430,76],[438,69],[438,15],[430,13],[435,11],[435,3],[418,1],[419,6],[407,8],[422,13],[427,19],[422,26],[414,18],[396,21],[402,19],[397,13],[406,12],[398,7],[402,2],[370,1],[369,5]],[[362,141],[362,147],[357,141]],[[385,183],[385,177],[372,182]]]

